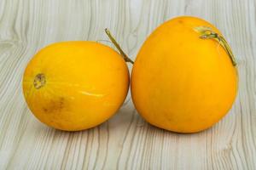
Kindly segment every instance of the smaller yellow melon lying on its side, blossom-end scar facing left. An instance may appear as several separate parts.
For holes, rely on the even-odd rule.
[[[34,116],[66,131],[108,120],[128,88],[125,59],[97,42],[51,44],[32,58],[23,77],[23,93]]]

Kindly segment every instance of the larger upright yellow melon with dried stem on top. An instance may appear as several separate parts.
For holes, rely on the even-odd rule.
[[[131,73],[131,95],[150,124],[177,133],[212,127],[236,99],[236,60],[221,32],[183,16],[143,43]]]

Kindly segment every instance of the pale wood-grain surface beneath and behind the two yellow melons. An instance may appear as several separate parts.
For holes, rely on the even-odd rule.
[[[255,8],[255,0],[0,0],[0,169],[256,169]],[[194,134],[152,127],[130,94],[108,122],[77,133],[46,127],[28,110],[20,82],[39,48],[107,40],[108,27],[135,59],[156,26],[184,14],[223,31],[239,63],[236,104],[216,126]]]

